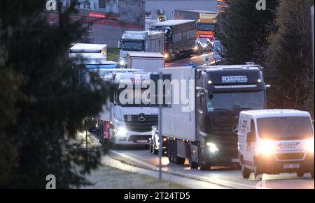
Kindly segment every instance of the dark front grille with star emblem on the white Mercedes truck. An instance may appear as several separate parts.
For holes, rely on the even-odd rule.
[[[152,126],[158,125],[158,115],[144,115],[145,120],[139,119],[140,115],[125,116],[127,130],[144,133],[151,132]]]

